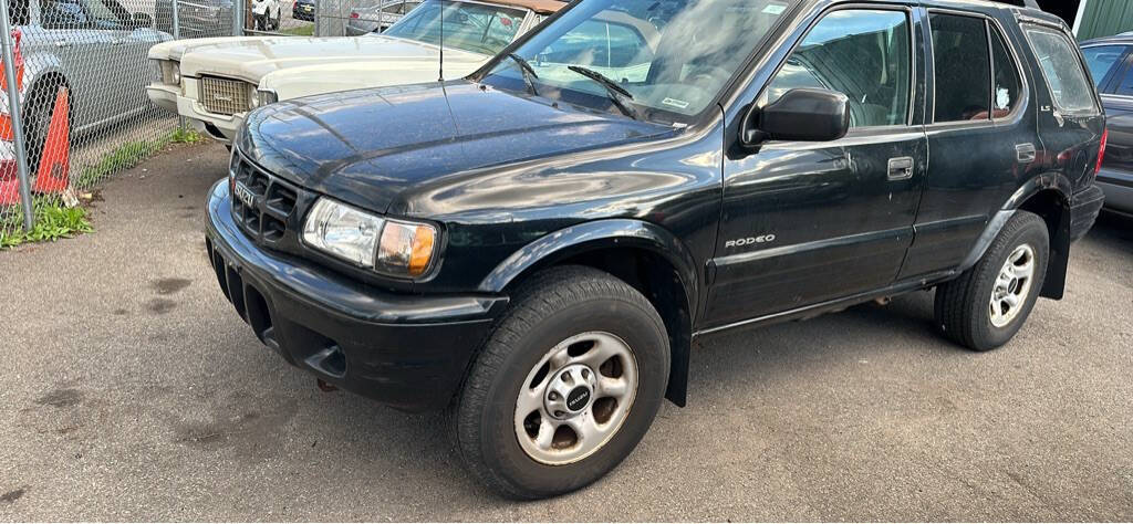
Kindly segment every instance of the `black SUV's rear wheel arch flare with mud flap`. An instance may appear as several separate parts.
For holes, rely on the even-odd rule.
[[[1054,190],[1058,195],[1063,209],[1059,213],[1059,223],[1054,224],[1050,234],[1050,260],[1047,264],[1047,275],[1040,292],[1041,297],[1048,299],[1062,299],[1066,287],[1066,269],[1070,266],[1070,243],[1071,243],[1071,195],[1073,184],[1062,173],[1043,173],[1023,183],[988,220],[983,232],[976,240],[976,244],[964,257],[959,272],[971,269],[987,252],[991,241],[999,235],[999,231],[1007,224],[1007,221],[1017,212],[1031,197],[1041,191]]]

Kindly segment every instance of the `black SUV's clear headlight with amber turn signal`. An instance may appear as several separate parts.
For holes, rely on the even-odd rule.
[[[382,218],[320,198],[304,222],[303,241],[359,267],[390,276],[416,277],[433,264],[436,227]]]

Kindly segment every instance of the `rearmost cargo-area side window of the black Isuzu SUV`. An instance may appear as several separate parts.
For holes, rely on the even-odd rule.
[[[1093,86],[1085,79],[1085,70],[1070,40],[1060,32],[1037,26],[1026,28],[1026,38],[1039,59],[1042,76],[1058,109],[1066,112],[1096,111]]]

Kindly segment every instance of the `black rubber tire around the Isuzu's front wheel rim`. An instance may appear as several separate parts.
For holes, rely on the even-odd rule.
[[[518,394],[552,347],[597,330],[620,337],[633,353],[638,385],[631,409],[593,454],[563,465],[537,462],[517,438]],[[665,325],[641,293],[597,269],[548,269],[517,291],[472,363],[450,413],[458,450],[476,479],[508,497],[535,499],[582,488],[621,463],[645,436],[661,406],[668,367]]]

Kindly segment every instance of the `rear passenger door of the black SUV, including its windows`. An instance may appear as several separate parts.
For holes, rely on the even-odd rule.
[[[959,266],[991,215],[1033,175],[1040,148],[1019,35],[977,11],[926,12],[928,183],[902,280]]]

